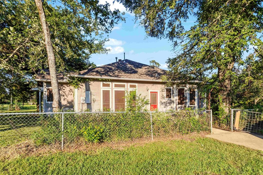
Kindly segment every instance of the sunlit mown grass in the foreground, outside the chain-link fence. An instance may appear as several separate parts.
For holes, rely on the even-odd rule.
[[[0,162],[2,174],[263,174],[263,152],[211,138]]]

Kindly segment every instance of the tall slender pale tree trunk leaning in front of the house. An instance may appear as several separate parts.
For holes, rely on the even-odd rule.
[[[61,109],[61,98],[59,93],[59,87],[58,87],[58,79],[57,79],[57,71],[55,66],[55,55],[52,47],[52,42],[50,39],[50,31],[48,28],[48,24],[45,17],[45,12],[43,9],[43,4],[41,0],[35,0],[38,14],[44,34],[45,39],[45,46],[47,49],[47,55],[48,55],[48,67],[50,72],[50,80],[51,80],[51,86],[52,86],[52,92],[53,92],[53,111],[57,112]]]

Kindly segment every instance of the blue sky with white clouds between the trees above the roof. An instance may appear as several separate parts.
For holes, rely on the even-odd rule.
[[[105,2],[105,0],[100,0],[102,4]],[[148,65],[150,60],[155,60],[161,64],[160,68],[167,69],[165,62],[174,55],[171,51],[172,43],[168,39],[146,38],[144,28],[139,26],[138,22],[135,23],[133,14],[126,12],[122,4],[108,2],[112,10],[118,8],[121,12],[125,12],[126,22],[115,25],[109,34],[109,41],[105,43],[105,48],[111,51],[108,54],[92,54],[90,61],[97,66],[109,64],[115,62],[115,57],[123,59],[125,52],[125,59]],[[195,19],[190,18],[183,25],[185,29],[190,29],[194,22]],[[244,56],[247,55],[247,53],[244,54]]]

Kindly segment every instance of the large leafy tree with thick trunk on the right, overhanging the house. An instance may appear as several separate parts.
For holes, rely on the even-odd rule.
[[[206,90],[213,87],[218,112],[223,108],[227,113],[244,53],[255,50],[262,55],[262,1],[118,1],[135,13],[148,36],[173,42],[176,56],[167,61],[166,79],[180,80],[178,85],[203,81],[196,85],[208,86]],[[196,22],[187,31],[182,22],[189,16]],[[212,84],[207,85],[208,81]]]

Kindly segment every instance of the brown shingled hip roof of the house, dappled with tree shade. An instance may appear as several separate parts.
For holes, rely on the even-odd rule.
[[[50,80],[49,69],[43,69],[46,74],[38,73],[36,79]],[[114,63],[99,66],[93,69],[80,71],[79,74],[70,74],[73,76],[87,78],[115,78],[115,79],[144,79],[161,80],[161,76],[166,74],[166,70],[138,63],[131,60],[121,60]],[[58,73],[58,80],[64,81],[63,73]]]

